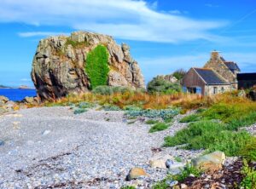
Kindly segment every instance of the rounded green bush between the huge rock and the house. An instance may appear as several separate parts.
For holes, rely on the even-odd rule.
[[[154,77],[148,83],[147,89],[149,93],[174,94],[181,92],[181,85],[179,83],[167,82],[161,77]]]

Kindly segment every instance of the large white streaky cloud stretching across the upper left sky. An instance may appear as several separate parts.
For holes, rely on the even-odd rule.
[[[0,22],[36,26],[69,26],[114,37],[179,43],[196,39],[215,41],[212,29],[224,21],[193,20],[156,11],[157,3],[143,0],[1,0]]]

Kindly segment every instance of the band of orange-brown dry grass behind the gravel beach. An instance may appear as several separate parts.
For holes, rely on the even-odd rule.
[[[142,92],[115,93],[111,95],[84,93],[79,95],[68,95],[65,98],[44,102],[41,106],[67,106],[81,101],[98,103],[100,105],[114,105],[124,108],[125,106],[139,106],[143,109],[166,109],[170,106],[178,106],[183,112],[210,107],[214,104],[239,104],[241,106],[252,106],[252,101],[247,98],[238,97],[237,92],[217,94],[212,96],[201,96],[198,94],[148,94]],[[256,106],[256,103],[255,103]]]

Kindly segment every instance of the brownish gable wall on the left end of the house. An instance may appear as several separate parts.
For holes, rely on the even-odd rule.
[[[193,68],[183,77],[182,84],[186,88],[201,87],[201,94],[205,94],[205,83]]]

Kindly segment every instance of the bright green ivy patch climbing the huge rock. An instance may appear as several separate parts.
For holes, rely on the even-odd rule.
[[[108,82],[108,50],[103,45],[96,46],[87,54],[85,72],[90,79],[90,89],[106,85]]]

